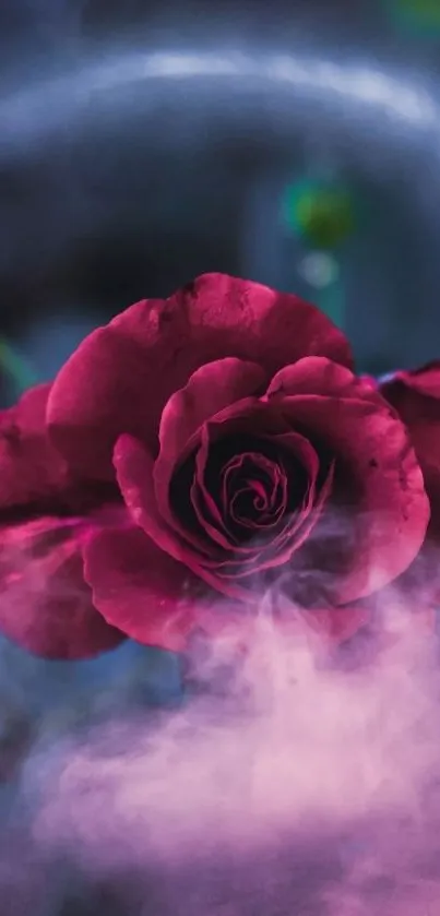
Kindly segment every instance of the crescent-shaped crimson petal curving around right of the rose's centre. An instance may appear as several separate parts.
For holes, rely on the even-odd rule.
[[[325,443],[356,484],[356,504],[347,519],[352,561],[333,599],[349,604],[396,579],[417,557],[430,512],[420,467],[397,415],[349,371],[319,359],[282,370],[267,397],[282,397],[293,426]],[[334,520],[336,536],[347,539],[347,531],[337,531],[340,521]],[[316,533],[319,537],[319,527]]]

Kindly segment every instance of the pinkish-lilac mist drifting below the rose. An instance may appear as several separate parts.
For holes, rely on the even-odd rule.
[[[3,804],[8,916],[439,912],[437,641],[395,591],[331,655],[266,609],[246,654],[199,646],[183,692],[177,656],[128,644],[86,663],[107,692],[79,663],[58,717],[40,699]],[[165,704],[139,702],[140,653]]]

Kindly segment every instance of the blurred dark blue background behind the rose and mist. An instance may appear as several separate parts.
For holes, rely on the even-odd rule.
[[[362,371],[440,357],[439,116],[440,0],[0,0],[0,406],[206,271],[314,301]],[[56,740],[179,691],[134,644],[62,665],[2,643],[3,825],[37,721]],[[32,912],[128,913],[64,890]]]

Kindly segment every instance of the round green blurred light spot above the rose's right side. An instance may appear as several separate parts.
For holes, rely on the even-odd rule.
[[[287,189],[284,206],[290,228],[313,248],[338,248],[355,230],[353,195],[344,185],[298,181]]]

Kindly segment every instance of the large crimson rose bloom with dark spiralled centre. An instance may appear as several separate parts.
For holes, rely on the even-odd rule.
[[[424,543],[429,503],[404,425],[353,374],[342,333],[295,296],[199,277],[91,334],[47,394],[37,479],[27,432],[0,461],[5,543],[16,513],[62,532],[62,548],[46,538],[25,626],[10,610],[8,558],[0,572],[0,621],[35,651],[41,631],[50,651],[53,628],[59,652],[71,626],[71,655],[118,633],[179,651],[197,628],[246,629],[274,582],[281,605],[343,639],[365,621],[353,603]],[[79,620],[71,606],[56,623],[45,598],[60,550],[82,600]]]

